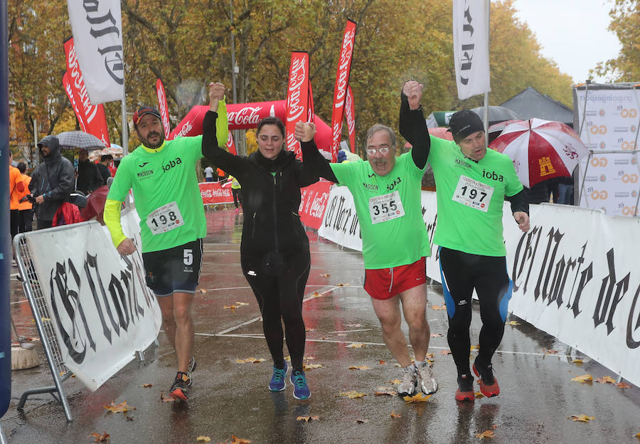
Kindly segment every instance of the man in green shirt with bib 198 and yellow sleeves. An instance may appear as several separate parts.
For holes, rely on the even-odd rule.
[[[210,84],[210,110],[216,122],[218,144],[227,139],[225,87]],[[121,255],[137,245],[122,232],[120,208],[129,189],[140,217],[142,259],[146,285],[154,291],[167,338],[176,349],[178,372],[169,392],[186,401],[191,372],[196,369],[193,350],[193,295],[202,265],[202,238],[206,218],[196,162],[202,157],[202,136],[164,139],[160,113],[141,107],[133,116],[141,145],[120,162],[105,203],[105,223]]]

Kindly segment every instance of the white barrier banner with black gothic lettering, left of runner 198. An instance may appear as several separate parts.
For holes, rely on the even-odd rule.
[[[139,219],[123,211],[138,250],[120,256],[95,221],[26,234],[65,366],[95,391],[154,342],[161,314],[144,282]]]

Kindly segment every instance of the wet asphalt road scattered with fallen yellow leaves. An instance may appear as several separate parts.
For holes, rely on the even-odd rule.
[[[92,432],[109,433],[110,443],[197,443],[198,436],[208,436],[211,443],[230,443],[232,435],[252,443],[640,442],[634,436],[640,433],[640,389],[572,382],[582,374],[594,379],[616,376],[516,317],[508,319],[519,324],[506,327],[493,361],[500,396],[474,403],[454,401],[455,367],[452,357],[444,354],[446,311],[431,308],[444,305],[437,282],[428,287],[427,319],[432,334],[445,335],[433,337],[430,344],[439,391],[424,403],[375,396],[378,387],[393,389],[390,381],[399,378],[400,369],[382,343],[378,320],[362,288],[361,254],[319,240],[313,233],[309,233],[311,273],[304,302],[309,330],[305,356],[306,363],[322,367],[306,372],[312,393],[308,401],[294,399],[290,385],[271,393],[267,390],[270,355],[262,338],[260,312],[240,271],[242,213],[212,211],[208,224],[200,285],[205,292],[197,293],[195,305],[198,369],[188,403],[161,402],[161,392],[169,390],[175,374],[175,354],[161,333],[159,347],[146,350],[145,361],[132,361],[95,393],[75,379],[65,381],[73,422],[65,421],[62,407],[48,395],[29,398],[25,410],[18,412],[16,403],[23,391],[53,384],[41,354],[39,367],[14,371],[12,376],[11,406],[2,418],[11,444],[92,443]],[[35,336],[33,316],[28,303],[22,302],[15,277],[11,289],[18,332]],[[314,292],[320,296],[312,297]],[[224,308],[236,302],[248,305]],[[477,344],[479,329],[475,306],[472,344]],[[353,343],[365,347],[347,347]],[[471,351],[471,356],[475,354]],[[266,361],[235,361],[250,357]],[[584,363],[572,364],[575,358]],[[341,395],[346,391],[366,396],[349,399]],[[123,414],[103,407],[125,400],[136,409]],[[567,418],[582,414],[594,419],[581,423]],[[299,416],[319,419],[297,421]],[[484,430],[492,430],[494,438],[476,438]]]

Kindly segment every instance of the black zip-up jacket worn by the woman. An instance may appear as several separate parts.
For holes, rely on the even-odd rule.
[[[203,120],[202,154],[242,186],[242,245],[244,251],[294,253],[309,249],[298,208],[300,189],[319,177],[305,168],[293,152],[282,150],[273,159],[260,152],[234,156],[218,147],[215,119],[208,111]]]

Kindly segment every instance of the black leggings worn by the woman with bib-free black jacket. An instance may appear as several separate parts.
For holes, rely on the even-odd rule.
[[[286,337],[292,367],[294,371],[302,371],[306,341],[302,298],[306,280],[309,278],[311,255],[309,250],[285,254],[282,256],[283,263],[275,270],[270,270],[268,265],[265,267],[265,263],[270,262],[267,256],[254,251],[242,251],[242,273],[245,274],[260,306],[262,329],[274,366],[284,368],[282,346]],[[284,320],[284,334],[281,318]]]

